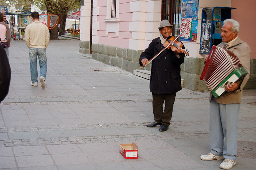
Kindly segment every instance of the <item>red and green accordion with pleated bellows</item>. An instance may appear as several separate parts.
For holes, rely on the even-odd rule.
[[[204,65],[200,80],[204,80],[214,97],[225,95],[226,84],[243,80],[248,74],[239,59],[232,52],[212,46],[209,57]]]

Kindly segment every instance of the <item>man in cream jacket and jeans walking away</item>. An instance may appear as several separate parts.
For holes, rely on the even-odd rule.
[[[37,57],[40,66],[41,87],[45,87],[45,78],[47,72],[46,48],[49,44],[50,35],[48,27],[39,21],[39,13],[32,12],[33,23],[29,24],[25,30],[25,41],[29,48],[30,76],[31,86],[37,86]]]

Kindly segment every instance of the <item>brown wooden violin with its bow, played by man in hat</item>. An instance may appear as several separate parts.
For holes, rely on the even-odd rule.
[[[180,37],[180,35],[177,36],[176,38],[174,36],[168,37],[167,40],[163,44],[164,45],[164,49],[161,50],[160,52],[158,52],[153,58],[151,58],[148,61],[148,64],[151,61],[153,61],[159,54],[161,54],[161,52],[163,52],[166,48],[168,48],[168,49],[171,48],[172,51],[174,51],[174,52],[176,52],[176,50],[178,50],[178,48],[181,48],[183,46],[183,44],[180,41],[177,40],[179,37]],[[189,52],[188,50],[184,51],[184,53],[189,56],[188,52]],[[141,67],[144,67],[144,66],[141,66]]]

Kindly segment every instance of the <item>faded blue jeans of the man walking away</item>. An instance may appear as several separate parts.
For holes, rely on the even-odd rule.
[[[30,76],[32,82],[38,82],[37,81],[37,56],[39,60],[39,66],[40,66],[40,77],[46,77],[47,72],[47,60],[46,60],[46,50],[43,48],[29,48],[29,60],[30,60]]]

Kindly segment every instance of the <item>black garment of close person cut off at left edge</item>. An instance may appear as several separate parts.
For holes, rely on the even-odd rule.
[[[11,81],[11,67],[6,56],[6,52],[0,45],[0,103],[9,92]]]

